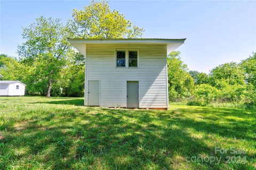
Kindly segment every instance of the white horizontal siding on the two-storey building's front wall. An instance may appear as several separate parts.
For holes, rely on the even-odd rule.
[[[138,67],[116,67],[116,50],[138,50]],[[87,44],[87,81],[100,81],[100,106],[126,107],[126,81],[139,81],[140,108],[167,107],[166,45]]]

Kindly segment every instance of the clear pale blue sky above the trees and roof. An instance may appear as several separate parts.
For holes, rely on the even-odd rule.
[[[22,27],[38,16],[66,22],[90,1],[1,1],[0,53],[18,56]],[[187,38],[177,50],[190,70],[208,73],[256,52],[256,1],[110,1],[143,27],[143,38]]]

